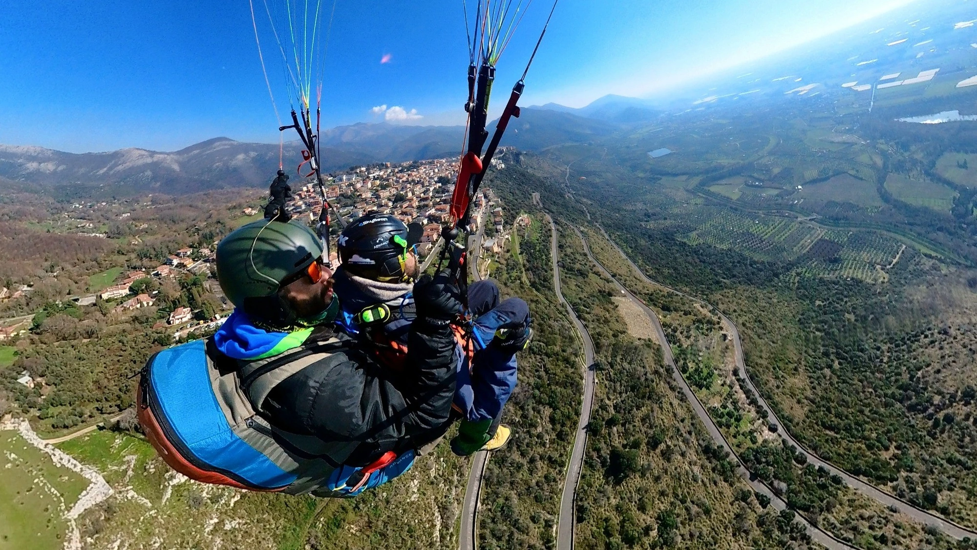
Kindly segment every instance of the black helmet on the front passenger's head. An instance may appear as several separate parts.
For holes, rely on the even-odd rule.
[[[373,281],[405,281],[407,250],[421,236],[419,223],[404,222],[389,214],[367,214],[346,226],[339,235],[339,258],[351,275]]]

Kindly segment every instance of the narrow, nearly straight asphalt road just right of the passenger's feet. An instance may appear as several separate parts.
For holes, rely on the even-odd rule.
[[[549,217],[549,216],[547,216]],[[580,481],[580,470],[583,467],[583,452],[587,447],[587,424],[590,423],[590,410],[594,403],[594,342],[590,339],[583,323],[576,318],[573,307],[563,297],[560,290],[560,249],[557,246],[556,223],[550,218],[550,226],[553,228],[552,258],[553,258],[553,288],[556,295],[567,308],[573,326],[583,341],[583,406],[580,412],[580,421],[576,425],[576,436],[573,438],[573,452],[570,454],[570,463],[567,466],[567,478],[563,486],[563,496],[560,498],[560,519],[557,527],[556,548],[557,550],[573,549],[573,532],[576,527],[576,486]]]

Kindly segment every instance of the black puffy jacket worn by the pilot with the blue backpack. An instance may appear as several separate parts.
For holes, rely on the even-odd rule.
[[[338,337],[340,349],[317,359],[268,394],[267,419],[324,441],[360,442],[344,463],[365,465],[400,454],[446,430],[455,385],[455,340],[448,326],[415,323],[402,373],[381,366],[362,344],[320,328],[303,347]]]

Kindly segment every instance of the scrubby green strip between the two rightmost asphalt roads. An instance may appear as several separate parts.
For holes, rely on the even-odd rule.
[[[950,538],[908,523],[870,497],[839,485],[840,479],[807,464],[802,454],[777,439],[768,429],[766,411],[759,408],[737,369],[732,341],[714,314],[636,277],[599,232],[590,231],[589,240],[595,255],[618,280],[658,311],[676,363],[713,421],[750,471],[778,488],[792,510],[863,548],[879,542],[906,548],[956,547]],[[803,373],[790,380],[792,387],[808,383]]]

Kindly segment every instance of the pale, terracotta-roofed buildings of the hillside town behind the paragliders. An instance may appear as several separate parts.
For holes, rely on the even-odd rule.
[[[499,157],[505,154],[500,151]],[[457,161],[453,158],[443,158],[427,161],[413,161],[400,164],[382,163],[370,166],[352,167],[349,171],[332,174],[326,180],[325,196],[335,206],[338,206],[343,218],[355,219],[371,212],[381,212],[400,217],[405,223],[419,222],[424,231],[417,245],[417,254],[425,257],[434,250],[444,223],[450,221],[449,203],[454,186]],[[496,169],[504,168],[504,164],[496,161]],[[319,184],[312,180],[299,180],[292,185],[292,196],[286,204],[288,211],[295,218],[308,216],[311,223],[319,216],[322,206],[322,193]],[[486,219],[487,228],[492,234],[503,231],[504,220],[502,209],[495,207],[494,195],[489,190],[479,194],[473,205],[481,212],[488,208],[489,216],[473,216],[473,219]],[[70,211],[99,210],[122,208],[112,203],[73,204]],[[263,204],[254,204],[238,211],[242,215],[241,222],[254,216],[256,219],[263,212]],[[154,208],[147,203],[131,205],[131,208]],[[118,210],[115,211],[116,213]],[[84,219],[72,220],[72,216],[65,214],[72,222],[71,232],[88,237],[107,238],[106,234],[92,232],[98,226]],[[125,219],[130,213],[113,215],[117,219]],[[80,217],[80,216],[79,216]],[[75,222],[76,221],[76,222]],[[145,225],[140,226],[145,228]],[[140,227],[137,227],[139,229]],[[470,227],[474,231],[476,227]],[[333,233],[338,231],[333,224]],[[132,243],[140,242],[135,237]],[[488,239],[483,245],[488,252],[500,247],[501,239]],[[152,329],[172,329],[174,339],[182,339],[194,333],[214,329],[224,322],[231,312],[232,305],[223,295],[219,285],[214,280],[214,259],[217,241],[209,243],[207,247],[183,247],[172,251],[165,260],[154,267],[129,269],[124,266],[114,268],[118,274],[114,279],[107,280],[104,288],[90,289],[88,295],[72,295],[69,299],[76,306],[99,305],[104,311],[115,315],[126,316],[137,311],[152,308],[156,312],[159,307],[158,295],[160,288],[167,282],[179,284],[193,277],[202,280],[200,294],[214,296],[219,300],[214,307],[208,308],[206,314],[200,309],[188,306],[175,307],[170,311],[163,308],[157,313]],[[338,260],[335,248],[329,258]],[[113,270],[109,270],[113,271]],[[16,288],[0,288],[0,301],[18,299],[31,292],[30,285],[19,285]],[[215,301],[216,301],[215,300]],[[165,315],[164,315],[165,313]],[[31,330],[32,316],[11,319],[0,324],[0,340],[12,340]]]

